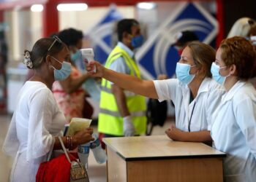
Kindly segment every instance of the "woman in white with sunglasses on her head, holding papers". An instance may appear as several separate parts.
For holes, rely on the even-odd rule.
[[[25,50],[24,61],[34,76],[18,94],[17,106],[4,141],[3,150],[15,156],[10,181],[35,181],[39,164],[50,149],[61,149],[65,117],[50,91],[55,80],[70,74],[69,50],[58,37],[39,39],[33,49]],[[62,137],[68,149],[93,141],[91,128],[71,137]]]

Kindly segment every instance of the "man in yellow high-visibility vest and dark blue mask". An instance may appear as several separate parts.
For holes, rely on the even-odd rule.
[[[106,68],[138,76],[140,71],[134,52],[143,43],[140,24],[134,19],[120,20],[117,25],[118,44],[110,53]],[[146,100],[102,79],[99,103],[99,138],[141,135],[146,132]]]

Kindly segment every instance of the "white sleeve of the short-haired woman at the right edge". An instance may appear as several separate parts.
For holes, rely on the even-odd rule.
[[[236,102],[236,101],[235,101]],[[249,146],[250,151],[256,159],[256,101],[252,98],[245,98],[234,106],[234,114],[236,122],[241,128],[244,137],[246,138],[246,145]]]

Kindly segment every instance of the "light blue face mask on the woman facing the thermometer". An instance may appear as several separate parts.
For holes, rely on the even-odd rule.
[[[53,58],[52,56],[50,56],[51,58]],[[53,58],[54,60],[58,61],[59,63],[61,63],[61,61],[57,60],[56,58]],[[52,66],[53,67],[53,66]],[[71,64],[68,63],[67,61],[63,61],[63,63],[61,63],[61,69],[56,69],[54,68],[54,79],[55,80],[64,80],[67,79],[67,77],[70,75],[71,72]]]

